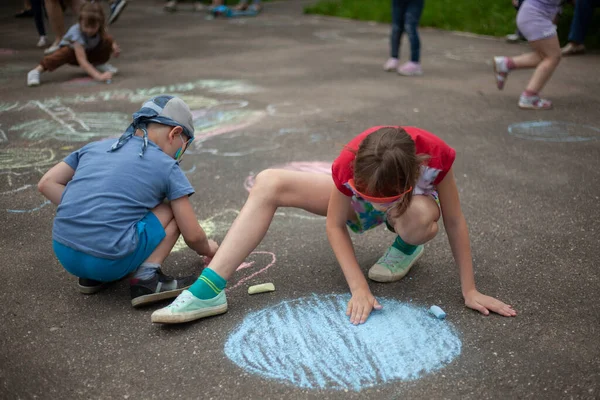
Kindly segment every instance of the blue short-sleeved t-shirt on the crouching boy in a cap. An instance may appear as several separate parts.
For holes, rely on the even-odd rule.
[[[95,257],[119,259],[136,249],[136,224],[148,211],[194,188],[154,143],[148,142],[143,157],[138,136],[108,152],[113,143],[89,143],[64,159],[75,175],[58,205],[52,238]]]

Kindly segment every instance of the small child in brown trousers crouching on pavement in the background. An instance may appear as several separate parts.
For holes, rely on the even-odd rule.
[[[27,74],[27,86],[38,86],[40,75],[54,71],[64,64],[79,65],[97,81],[110,81],[117,69],[108,64],[111,54],[118,57],[121,49],[106,33],[104,12],[97,3],[84,3],[79,22],[69,28],[59,49],[45,56],[40,64]]]

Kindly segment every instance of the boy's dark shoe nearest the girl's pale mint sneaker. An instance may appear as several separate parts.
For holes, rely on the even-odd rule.
[[[138,307],[177,297],[197,279],[196,275],[176,279],[163,274],[160,269],[151,279],[132,278],[130,280],[131,305]]]

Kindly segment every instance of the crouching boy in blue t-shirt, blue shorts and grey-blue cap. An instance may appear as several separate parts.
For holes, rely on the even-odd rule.
[[[160,270],[180,233],[199,255],[212,257],[218,248],[198,224],[189,200],[194,189],[179,168],[193,139],[185,102],[157,96],[133,114],[116,143],[89,143],[42,177],[40,192],[58,205],[54,252],[79,277],[82,293],[133,272],[135,307],[175,297],[196,281]]]

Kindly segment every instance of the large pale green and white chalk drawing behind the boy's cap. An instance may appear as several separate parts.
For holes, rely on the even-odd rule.
[[[243,94],[260,90],[244,81],[199,80],[149,89],[125,89],[64,98],[32,100],[24,104],[19,102],[2,103],[0,112],[27,112],[26,114],[30,116],[27,121],[18,123],[9,129],[9,131],[19,132],[25,139],[80,142],[116,136],[131,121],[131,116],[126,113],[77,112],[74,109],[75,106],[80,107],[87,103],[128,101],[141,104],[149,97],[162,93],[178,95],[188,103],[192,110],[195,110],[194,123],[200,138],[245,128],[258,122],[265,115],[262,111],[239,110],[248,104],[246,101],[219,101],[200,95],[186,94],[195,89],[218,94]],[[232,108],[230,103],[236,104],[238,107]],[[244,106],[239,107],[240,104],[244,104]],[[42,118],[31,117],[38,113]]]

